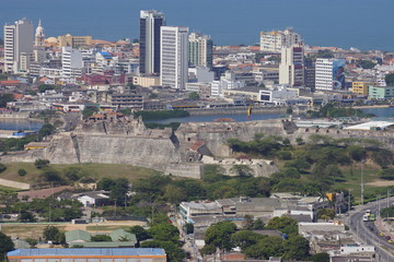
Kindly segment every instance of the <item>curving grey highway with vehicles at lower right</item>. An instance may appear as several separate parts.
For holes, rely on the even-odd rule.
[[[389,199],[392,204],[394,198]],[[367,245],[375,246],[376,253],[380,255],[379,261],[394,261],[394,243],[389,243],[384,237],[379,236],[379,230],[372,222],[363,222],[362,216],[367,210],[378,214],[379,204],[385,207],[387,199],[371,202],[364,205],[358,205],[354,211],[349,212],[347,224],[358,239]]]

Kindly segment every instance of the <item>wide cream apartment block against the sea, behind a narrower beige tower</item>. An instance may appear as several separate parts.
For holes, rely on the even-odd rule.
[[[302,43],[301,36],[292,28],[285,31],[260,32],[260,50],[280,52],[282,47],[298,46]]]

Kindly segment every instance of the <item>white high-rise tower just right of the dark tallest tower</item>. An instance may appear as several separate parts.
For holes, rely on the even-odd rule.
[[[163,86],[184,90],[187,83],[188,27],[161,27],[160,82]]]

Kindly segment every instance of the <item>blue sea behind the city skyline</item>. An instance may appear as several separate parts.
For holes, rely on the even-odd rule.
[[[260,31],[292,26],[305,44],[394,51],[393,0],[1,0],[0,24],[43,20],[46,36],[139,37],[139,11],[163,11],[218,45],[253,45]]]

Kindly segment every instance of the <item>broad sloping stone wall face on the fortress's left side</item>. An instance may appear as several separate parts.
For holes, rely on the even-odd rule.
[[[130,164],[164,171],[179,156],[170,139],[121,135],[56,135],[44,150],[44,158],[54,164]]]

